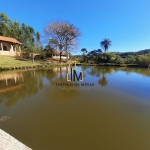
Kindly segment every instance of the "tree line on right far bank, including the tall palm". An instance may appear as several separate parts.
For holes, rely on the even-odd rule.
[[[113,64],[150,64],[150,49],[140,50],[138,52],[109,52],[108,49],[111,46],[111,41],[105,38],[100,42],[101,48],[88,52],[86,48],[82,48],[82,56],[78,56],[77,59],[81,63],[113,63]],[[86,54],[87,53],[87,54]]]

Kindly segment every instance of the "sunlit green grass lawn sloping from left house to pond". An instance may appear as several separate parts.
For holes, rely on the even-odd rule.
[[[41,65],[42,61],[18,60],[12,56],[0,56],[0,68]]]

